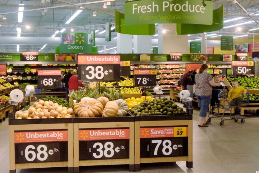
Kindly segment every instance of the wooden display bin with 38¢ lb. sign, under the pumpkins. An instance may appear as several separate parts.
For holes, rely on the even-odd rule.
[[[134,117],[74,118],[74,172],[80,166],[129,165],[135,170]]]

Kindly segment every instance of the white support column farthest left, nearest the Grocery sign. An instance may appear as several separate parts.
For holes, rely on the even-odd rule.
[[[132,35],[117,33],[117,53],[132,53]]]

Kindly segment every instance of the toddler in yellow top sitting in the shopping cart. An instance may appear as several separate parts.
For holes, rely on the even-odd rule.
[[[236,111],[239,111],[238,106],[243,102],[242,94],[246,95],[246,89],[238,86],[238,81],[232,82],[233,88],[228,93],[229,105],[236,107]]]

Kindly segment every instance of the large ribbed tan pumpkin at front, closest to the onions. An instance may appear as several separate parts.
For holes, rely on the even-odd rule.
[[[77,113],[78,117],[100,117],[101,116],[101,113],[103,111],[103,106],[100,101],[87,100],[85,102],[80,102],[79,104],[81,104],[80,107],[75,109],[75,113]]]

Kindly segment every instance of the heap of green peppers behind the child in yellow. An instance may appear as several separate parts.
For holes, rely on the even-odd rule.
[[[239,86],[245,89],[259,89],[259,77],[237,77],[229,78],[227,77],[228,82],[232,85],[233,81],[238,81]]]

